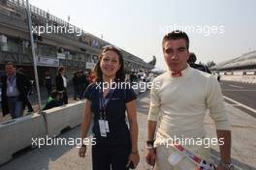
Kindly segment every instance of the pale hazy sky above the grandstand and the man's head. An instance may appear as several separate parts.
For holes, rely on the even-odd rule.
[[[181,29],[198,61],[220,63],[256,50],[255,0],[29,0],[63,20],[82,27],[142,58],[155,55],[167,69],[161,42]]]

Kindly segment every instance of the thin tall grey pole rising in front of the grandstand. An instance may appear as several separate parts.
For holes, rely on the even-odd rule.
[[[28,20],[28,30],[30,34],[30,42],[31,42],[31,49],[32,49],[32,57],[33,57],[33,63],[34,63],[34,71],[35,71],[35,79],[36,79],[36,88],[38,92],[38,105],[39,110],[42,109],[41,106],[41,95],[40,95],[40,89],[39,89],[39,81],[38,81],[38,72],[37,72],[37,60],[36,60],[36,53],[35,53],[35,45],[34,45],[34,38],[32,33],[32,22],[31,22],[31,13],[30,13],[30,6],[28,0],[26,0],[26,6],[27,6],[27,20]]]

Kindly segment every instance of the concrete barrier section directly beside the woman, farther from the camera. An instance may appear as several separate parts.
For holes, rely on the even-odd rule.
[[[85,101],[54,107],[43,111],[47,123],[48,136],[60,134],[64,128],[75,128],[81,124]]]

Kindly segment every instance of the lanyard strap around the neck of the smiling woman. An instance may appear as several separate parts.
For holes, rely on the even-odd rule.
[[[100,88],[101,89],[101,88]],[[100,98],[99,98],[99,106],[100,106],[100,119],[104,119],[106,120],[107,119],[107,115],[106,115],[106,108],[107,108],[107,105],[109,103],[109,101],[111,100],[112,98],[112,94],[114,92],[115,89],[112,89],[109,91],[109,94],[107,94],[107,96],[109,95],[109,98],[104,98],[103,96],[103,89],[102,91],[100,90],[99,91],[99,94],[100,94]],[[106,97],[107,97],[106,96]]]

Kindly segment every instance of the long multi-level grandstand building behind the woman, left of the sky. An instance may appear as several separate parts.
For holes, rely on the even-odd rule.
[[[98,60],[102,47],[111,44],[33,5],[30,5],[30,11],[40,83],[45,71],[55,74],[60,65],[67,67],[68,76],[73,71],[90,71]],[[45,33],[39,32],[40,26],[47,28]],[[54,33],[52,28],[55,28]],[[13,61],[33,78],[29,38],[25,1],[1,0],[0,72],[4,71],[3,65],[7,61]],[[123,49],[121,51],[126,72],[153,69],[153,66],[145,63],[143,59]]]

